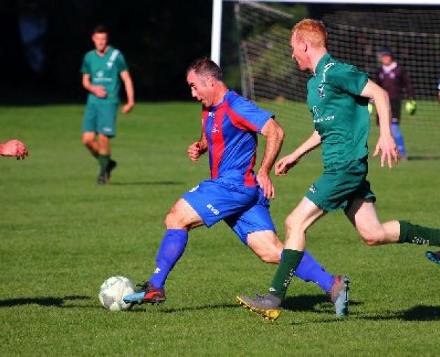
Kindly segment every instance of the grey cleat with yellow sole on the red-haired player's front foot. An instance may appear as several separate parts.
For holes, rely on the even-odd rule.
[[[270,293],[265,296],[255,294],[255,298],[240,295],[237,301],[244,308],[261,314],[269,322],[274,322],[281,313],[281,299]]]

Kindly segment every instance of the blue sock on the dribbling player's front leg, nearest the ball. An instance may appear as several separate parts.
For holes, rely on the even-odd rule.
[[[156,270],[149,280],[157,289],[163,289],[166,277],[177,263],[186,247],[188,232],[184,229],[168,229],[163,236],[156,256]]]

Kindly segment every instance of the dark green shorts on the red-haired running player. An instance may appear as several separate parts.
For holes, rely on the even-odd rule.
[[[328,212],[339,208],[347,211],[356,198],[376,202],[367,181],[367,173],[367,158],[326,167],[323,175],[311,185],[306,197]]]

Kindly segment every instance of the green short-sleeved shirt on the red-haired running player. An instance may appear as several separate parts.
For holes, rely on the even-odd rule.
[[[307,105],[321,135],[324,167],[368,155],[368,100],[360,97],[368,75],[325,54],[307,83]]]

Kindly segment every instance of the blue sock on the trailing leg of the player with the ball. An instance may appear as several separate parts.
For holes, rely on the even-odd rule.
[[[302,256],[300,265],[296,268],[295,276],[305,282],[314,282],[318,284],[326,293],[330,292],[330,289],[335,282],[335,277],[325,271],[324,268],[318,264],[318,261],[307,252],[307,250]]]

